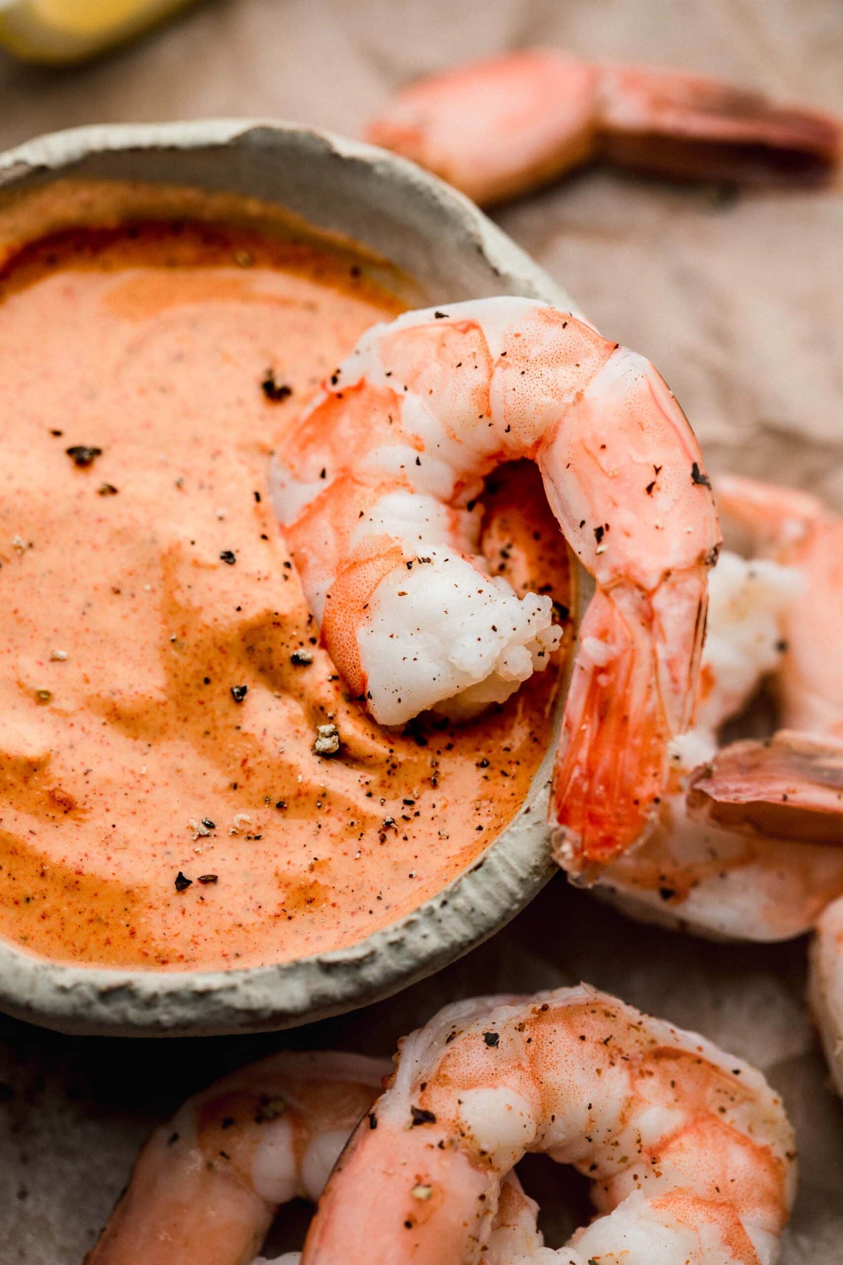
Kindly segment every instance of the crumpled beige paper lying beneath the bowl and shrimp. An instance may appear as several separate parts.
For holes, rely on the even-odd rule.
[[[217,0],[81,70],[0,54],[0,147],[92,121],[267,114],[356,134],[391,87],[525,43],[684,65],[843,111],[838,0]],[[605,171],[497,216],[662,371],[708,464],[843,509],[843,200],[724,200]],[[799,1132],[785,1265],[843,1262],[843,1109],[804,1006],[805,946],[638,927],[559,879],[504,932],[391,1002],[282,1036],[80,1040],[0,1018],[0,1265],[77,1265],[152,1123],[281,1044],[389,1052],[458,996],[586,978],[758,1064]],[[556,1232],[581,1192],[533,1171]]]

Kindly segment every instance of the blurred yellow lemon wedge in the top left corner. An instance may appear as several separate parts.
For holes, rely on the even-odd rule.
[[[0,0],[0,44],[27,62],[92,57],[191,0]]]

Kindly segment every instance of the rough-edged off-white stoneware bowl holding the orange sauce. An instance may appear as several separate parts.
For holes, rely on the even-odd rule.
[[[211,120],[57,133],[0,157],[0,204],[57,180],[143,181],[245,195],[340,233],[415,278],[422,302],[570,301],[446,185],[382,151],[301,126]],[[48,188],[47,188],[48,192]],[[490,936],[551,873],[550,753],[512,825],[434,899],[351,947],[243,970],[166,974],[57,965],[0,945],[0,1008],[63,1032],[176,1036],[305,1023],[374,1002]]]

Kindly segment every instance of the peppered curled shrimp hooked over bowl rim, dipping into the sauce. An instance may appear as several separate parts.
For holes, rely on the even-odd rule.
[[[551,794],[557,853],[646,830],[689,720],[719,530],[694,434],[653,367],[546,304],[408,312],[363,336],[282,436],[274,503],[354,694],[384,725],[506,700],[559,639],[551,601],[484,573],[476,498],[537,462],[595,593]]]

